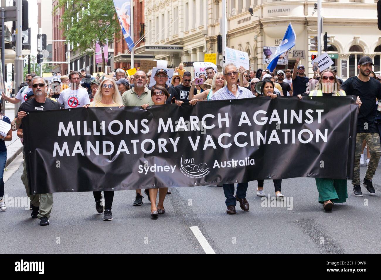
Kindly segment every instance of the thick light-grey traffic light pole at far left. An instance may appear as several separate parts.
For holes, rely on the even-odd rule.
[[[17,21],[16,21],[16,58],[14,59],[14,69],[16,75],[14,77],[15,94],[20,90],[20,85],[24,80],[24,59],[22,59],[22,0],[16,0]],[[14,104],[14,114],[16,115],[20,107],[20,102]]]

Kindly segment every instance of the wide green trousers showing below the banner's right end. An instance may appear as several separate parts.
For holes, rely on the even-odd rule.
[[[315,178],[317,191],[319,192],[319,203],[327,200],[335,203],[347,201],[347,180],[345,179],[322,179]]]

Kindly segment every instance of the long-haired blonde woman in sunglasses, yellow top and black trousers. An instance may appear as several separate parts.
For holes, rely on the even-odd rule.
[[[94,95],[94,100],[90,105],[83,107],[123,107],[122,96],[120,96],[118,86],[114,80],[106,78],[99,85],[98,91]],[[104,206],[101,205],[102,192],[93,192],[95,198],[95,208],[99,214],[104,210],[103,221],[112,221],[112,201],[114,200],[113,190],[104,190]]]

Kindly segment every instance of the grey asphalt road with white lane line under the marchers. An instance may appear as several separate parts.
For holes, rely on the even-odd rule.
[[[5,194],[12,197],[25,197],[21,162],[19,156],[5,172]],[[362,167],[361,178],[364,174]],[[109,222],[96,212],[91,192],[56,193],[49,226],[39,226],[22,207],[0,212],[0,243],[3,253],[201,254],[202,238],[199,241],[190,229],[198,227],[208,252],[380,253],[380,174],[373,179],[373,196],[362,188],[364,196],[354,197],[348,181],[347,202],[336,204],[330,213],[317,202],[313,178],[283,180],[282,193],[293,198],[292,210],[262,207],[256,182],[250,182],[250,211],[237,206],[235,215],[226,214],[223,189],[216,186],[170,189],[166,212],[158,219],[150,217],[146,197],[142,206],[133,206],[134,191],[117,191],[114,220]],[[264,190],[274,195],[272,181],[265,181]]]

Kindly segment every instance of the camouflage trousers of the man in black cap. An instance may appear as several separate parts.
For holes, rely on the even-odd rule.
[[[360,157],[362,142],[364,139],[368,144],[368,149],[370,150],[370,161],[368,164],[367,173],[365,174],[366,179],[371,180],[373,176],[375,176],[381,156],[380,136],[378,133],[357,133],[352,185],[360,184]]]

